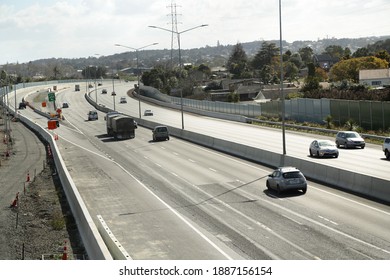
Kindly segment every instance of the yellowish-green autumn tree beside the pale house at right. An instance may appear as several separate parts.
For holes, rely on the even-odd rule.
[[[366,56],[341,60],[330,69],[330,78],[332,81],[351,81],[359,82],[359,70],[362,69],[382,69],[387,68],[386,60],[375,56]]]

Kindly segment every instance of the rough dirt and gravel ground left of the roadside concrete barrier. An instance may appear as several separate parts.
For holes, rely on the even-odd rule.
[[[3,136],[1,129],[0,126],[0,137]],[[23,165],[23,161],[17,159],[16,153],[21,152],[24,146],[19,141],[20,147],[17,147],[17,143],[18,141],[14,142],[14,149],[9,157],[5,157],[3,140],[0,143],[2,174],[10,174],[9,172]],[[45,149],[47,150],[47,147]],[[5,187],[5,184],[2,185]],[[15,194],[12,193],[15,196],[9,203],[5,204],[4,200],[2,203],[0,259],[62,259],[65,255],[67,259],[87,259],[75,220],[50,157],[46,159],[42,172],[35,177],[31,176],[31,181],[25,182],[24,185],[22,190],[19,190],[20,186],[15,186],[14,189],[17,191]],[[14,202],[17,204],[16,207],[11,207]]]

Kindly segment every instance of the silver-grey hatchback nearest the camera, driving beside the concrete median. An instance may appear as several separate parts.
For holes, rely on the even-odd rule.
[[[266,182],[267,189],[273,189],[280,194],[286,190],[307,191],[307,181],[303,173],[292,166],[283,166],[275,169],[268,175]]]

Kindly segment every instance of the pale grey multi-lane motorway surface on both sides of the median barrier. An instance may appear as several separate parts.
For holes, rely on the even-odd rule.
[[[130,87],[115,85],[115,106],[138,117],[137,100],[118,103]],[[98,103],[112,108],[112,96],[100,92]],[[152,142],[151,131],[142,127],[134,139],[113,141],[105,135],[103,113],[98,121],[87,121],[92,106],[73,85],[57,93],[57,104],[62,102],[70,106],[55,132],[67,168],[92,217],[103,216],[133,259],[390,258],[387,205],[314,182],[305,195],[278,196],[265,188],[272,171],[267,167],[174,137]],[[142,118],[181,127],[180,112],[141,107],[154,112]],[[47,122],[30,109],[21,114]],[[214,137],[274,151],[282,147],[279,130],[190,114],[184,123],[185,129]],[[287,132],[287,153],[389,176],[380,147],[342,149],[338,159],[315,159],[308,157],[312,139]]]

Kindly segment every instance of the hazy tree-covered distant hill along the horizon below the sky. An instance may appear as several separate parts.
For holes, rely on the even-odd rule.
[[[336,45],[343,48],[348,47],[352,53],[359,48],[374,45],[377,42],[390,39],[389,36],[381,37],[363,37],[363,38],[326,38],[317,41],[294,41],[292,43],[283,41],[283,52],[290,50],[292,53],[297,52],[304,47],[311,47],[315,54],[321,54],[327,46]],[[253,41],[241,43],[248,58],[253,57],[261,48],[264,41]],[[275,43],[279,46],[278,40],[267,41]],[[210,67],[222,66],[227,62],[234,45],[218,45],[214,47],[206,46],[195,49],[182,49],[181,56],[183,63],[192,63],[199,65],[204,63]],[[388,50],[390,52],[390,50]],[[172,52],[173,63],[178,63],[178,50]],[[138,52],[139,64],[142,67],[152,67],[156,63],[169,62],[171,60],[171,50],[141,50]],[[28,65],[28,66],[27,66]],[[136,54],[134,51],[123,52],[114,55],[101,57],[84,57],[84,58],[45,58],[23,64],[7,64],[0,66],[8,71],[15,71],[22,76],[32,76],[40,73],[44,76],[50,76],[54,67],[62,69],[61,72],[66,72],[67,76],[75,76],[77,70],[84,69],[88,65],[103,66],[108,69],[108,73],[115,73],[127,67],[136,67]],[[46,69],[45,69],[46,68]],[[34,73],[32,73],[32,71]]]

